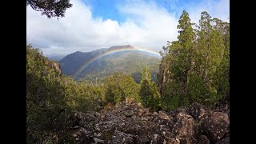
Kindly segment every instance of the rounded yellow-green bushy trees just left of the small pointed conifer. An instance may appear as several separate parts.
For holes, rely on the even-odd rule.
[[[105,79],[104,86],[106,102],[117,103],[126,98],[134,98],[136,102],[141,101],[138,96],[139,85],[130,76],[115,73]]]

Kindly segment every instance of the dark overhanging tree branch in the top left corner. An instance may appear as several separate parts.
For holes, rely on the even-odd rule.
[[[70,0],[26,0],[26,6],[30,5],[33,10],[42,11],[48,18],[65,16],[66,9],[70,8]]]

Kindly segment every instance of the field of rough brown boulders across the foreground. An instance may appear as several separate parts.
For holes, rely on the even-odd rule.
[[[227,114],[194,103],[172,111],[151,112],[130,99],[102,113],[74,112],[71,134],[78,143],[226,144]]]

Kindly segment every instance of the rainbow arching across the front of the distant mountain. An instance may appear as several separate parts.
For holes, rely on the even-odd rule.
[[[117,50],[107,50],[105,53],[99,54],[97,57],[92,58],[92,59],[90,59],[90,61],[83,64],[81,66],[81,68],[78,69],[77,72],[74,74],[74,78],[77,78],[78,74],[80,74],[82,72],[82,70],[84,70],[86,68],[86,66],[89,66],[90,63],[96,61],[98,58],[102,58],[106,55],[114,54],[114,53],[118,53],[118,52],[122,52],[122,51],[142,51],[142,52],[146,52],[149,54],[153,54],[156,57],[160,57],[160,54],[158,52],[155,52],[154,50],[145,50],[145,49],[141,49],[141,48],[134,48],[134,49],[121,48],[121,49],[117,49]]]

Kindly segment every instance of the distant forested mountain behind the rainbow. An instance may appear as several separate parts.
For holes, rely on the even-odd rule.
[[[136,82],[140,82],[142,69],[145,66],[149,67],[152,79],[156,81],[161,58],[126,45],[90,52],[77,51],[59,62],[63,74],[76,80],[101,81],[115,72],[121,72],[131,75]]]

